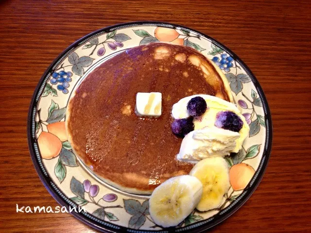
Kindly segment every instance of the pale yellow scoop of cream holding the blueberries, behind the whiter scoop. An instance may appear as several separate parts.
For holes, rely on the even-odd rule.
[[[193,95],[189,97],[185,97],[181,100],[179,100],[177,103],[173,105],[172,109],[172,116],[175,119],[181,119],[181,118],[187,118],[189,117],[189,113],[187,110],[187,103],[189,100],[191,100],[193,97],[200,96],[202,97],[206,103],[207,103],[207,110],[202,116],[197,116],[194,117],[193,119],[193,124],[194,124],[194,131],[195,130],[200,130],[205,127],[212,128],[215,125],[215,120],[216,120],[216,114],[221,111],[231,111],[240,116],[240,118],[243,121],[243,127],[242,129],[238,132],[240,134],[240,137],[235,139],[235,147],[228,152],[238,152],[239,150],[242,149],[242,144],[247,137],[249,133],[249,126],[245,120],[245,117],[242,116],[240,113],[240,110],[231,102],[225,101],[223,99],[217,98],[215,96],[209,96],[209,95]],[[215,130],[213,131],[215,132]],[[217,131],[220,132],[220,131]],[[231,132],[231,131],[230,131]],[[228,133],[226,131],[226,133]],[[233,132],[236,133],[236,132]],[[215,135],[215,134],[214,134]],[[188,134],[186,135],[186,137]],[[223,135],[225,136],[225,135]],[[186,138],[185,137],[185,138]],[[189,136],[191,137],[191,136]],[[188,139],[186,139],[188,140]],[[232,147],[232,145],[230,145]],[[205,149],[204,149],[205,150]]]

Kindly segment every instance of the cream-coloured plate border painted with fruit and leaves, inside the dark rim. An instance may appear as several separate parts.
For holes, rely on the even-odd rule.
[[[231,187],[222,204],[207,212],[194,210],[176,228],[204,221],[239,198],[258,169],[266,130],[262,102],[245,70],[226,51],[189,30],[146,25],[121,28],[92,36],[60,58],[43,83],[35,108],[33,136],[39,149],[38,160],[58,189],[87,213],[108,223],[139,230],[162,229],[149,215],[148,199],[113,190],[86,172],[71,150],[65,118],[70,94],[90,67],[114,52],[152,42],[189,46],[219,66],[250,126],[242,150],[225,157],[230,167]]]

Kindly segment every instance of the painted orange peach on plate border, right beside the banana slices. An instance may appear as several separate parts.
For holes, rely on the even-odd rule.
[[[233,165],[229,171],[229,178],[232,188],[236,191],[244,189],[254,174],[254,168],[247,164]]]

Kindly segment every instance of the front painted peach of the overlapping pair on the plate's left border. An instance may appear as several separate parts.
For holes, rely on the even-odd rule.
[[[38,146],[42,158],[52,159],[62,150],[62,142],[52,133],[42,132],[38,137]]]

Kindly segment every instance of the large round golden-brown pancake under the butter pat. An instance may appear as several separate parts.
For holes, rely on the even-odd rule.
[[[135,115],[138,92],[161,92],[162,115]],[[175,159],[182,138],[171,130],[178,100],[207,94],[232,101],[225,76],[189,47],[151,43],[125,50],[95,68],[69,100],[66,128],[76,155],[123,191],[150,194],[193,165]]]

